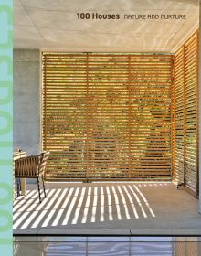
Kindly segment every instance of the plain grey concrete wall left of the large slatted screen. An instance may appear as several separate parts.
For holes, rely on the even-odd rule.
[[[40,51],[14,49],[14,147],[40,151]]]

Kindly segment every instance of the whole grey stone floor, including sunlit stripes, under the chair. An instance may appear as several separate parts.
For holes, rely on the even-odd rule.
[[[201,235],[198,200],[172,183],[48,183],[14,202],[14,234]]]

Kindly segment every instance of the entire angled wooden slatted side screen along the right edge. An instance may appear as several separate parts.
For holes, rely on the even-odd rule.
[[[198,32],[175,53],[175,180],[198,186]]]

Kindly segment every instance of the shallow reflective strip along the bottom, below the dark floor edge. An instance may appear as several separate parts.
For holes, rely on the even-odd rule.
[[[201,237],[15,237],[14,256],[200,256]]]

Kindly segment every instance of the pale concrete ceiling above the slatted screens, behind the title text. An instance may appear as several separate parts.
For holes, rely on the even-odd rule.
[[[198,28],[197,0],[14,0],[14,48],[175,52]],[[77,13],[120,14],[79,20]],[[124,20],[125,14],[185,15],[185,20]]]

